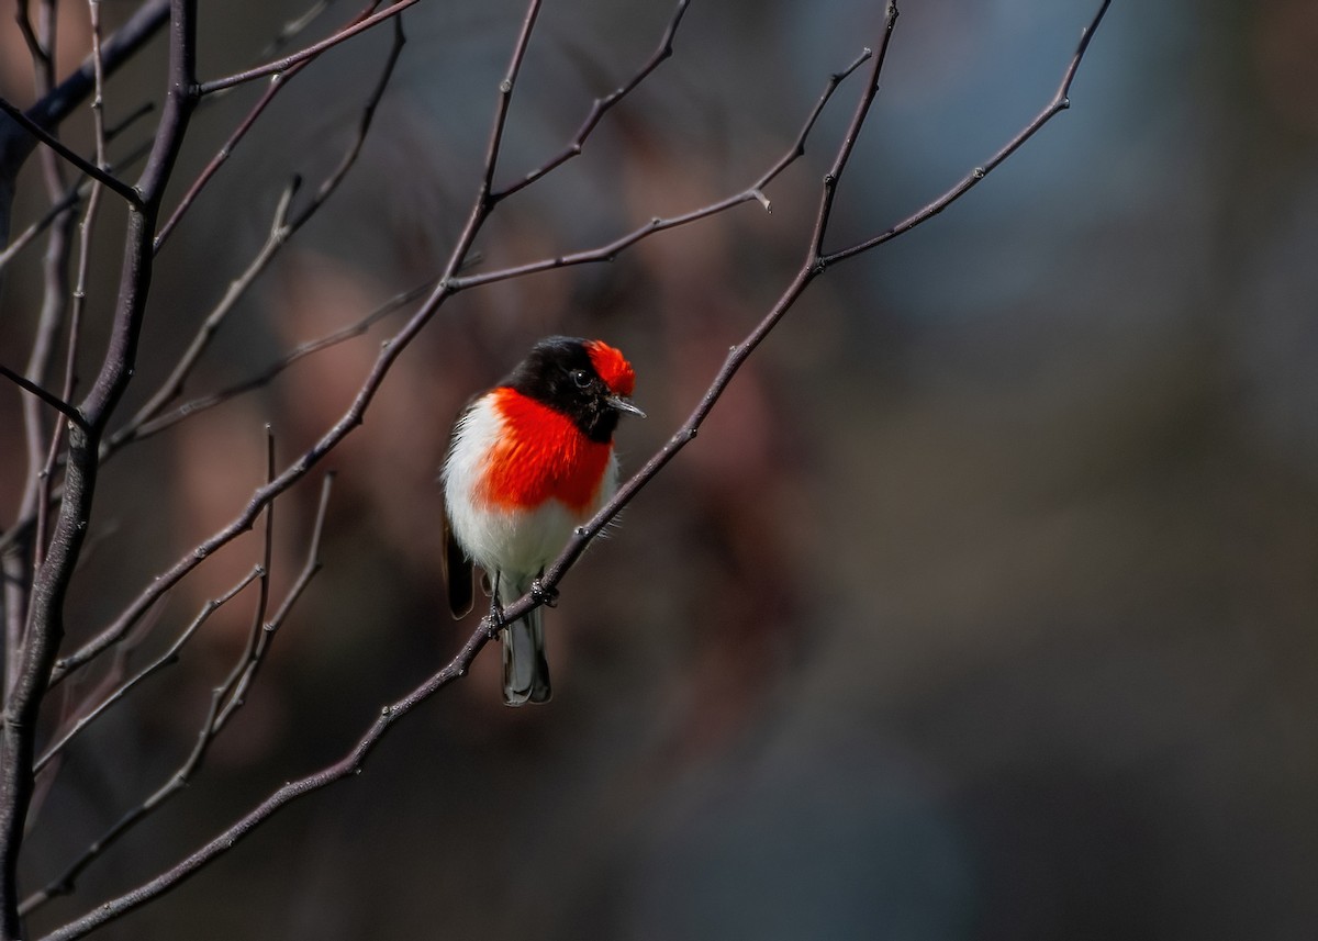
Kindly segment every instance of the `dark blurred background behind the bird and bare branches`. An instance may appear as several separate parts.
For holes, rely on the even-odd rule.
[[[202,7],[204,78],[261,61],[303,9]],[[103,8],[117,22],[133,5]],[[888,228],[985,162],[1049,100],[1095,8],[903,4],[829,244]],[[308,36],[352,11],[332,4]],[[558,153],[671,12],[547,4],[496,179]],[[86,12],[61,13],[67,70]],[[190,397],[439,271],[519,18],[509,0],[407,12],[361,159],[220,331]],[[693,3],[673,58],[584,156],[500,207],[481,269],[745,188],[880,20],[859,0]],[[21,37],[8,21],[0,37],[0,88],[26,104]],[[124,415],[260,248],[289,178],[310,190],[339,161],[387,41],[362,37],[290,83],[165,246]],[[572,571],[546,618],[552,704],[502,706],[492,644],[360,778],[99,937],[1314,937],[1314,49],[1304,0],[1118,0],[1073,108],[946,214],[817,281]],[[159,57],[157,41],[113,79],[111,120],[158,94]],[[749,203],[612,265],[442,308],[327,461],[326,568],[244,709],[181,796],[33,916],[34,937],[336,760],[456,652],[474,619],[445,610],[435,474],[461,403],[536,339],[621,347],[650,415],[619,431],[623,469],[662,445],[800,264],[857,90],[770,187],[772,214]],[[258,94],[199,113],[174,198]],[[38,161],[22,181],[16,232],[45,204]],[[103,221],[86,376],[119,269],[115,211]],[[40,252],[7,271],[8,365],[26,358]],[[265,423],[281,465],[319,438],[405,315],[116,456],[69,643],[236,515],[264,478]],[[8,389],[5,451],[21,427]],[[21,484],[21,461],[0,461],[5,526]],[[275,597],[319,485],[277,505]],[[258,526],[173,590],[133,663],[260,551]],[[70,747],[29,834],[30,890],[187,756],[253,605],[248,592],[224,608]]]

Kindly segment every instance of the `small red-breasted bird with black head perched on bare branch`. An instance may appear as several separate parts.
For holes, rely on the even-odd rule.
[[[635,372],[602,340],[550,336],[457,416],[440,480],[443,571],[455,618],[474,597],[474,567],[490,586],[503,644],[503,701],[547,702],[543,608],[511,623],[502,609],[530,590],[618,486],[613,434],[631,402]]]

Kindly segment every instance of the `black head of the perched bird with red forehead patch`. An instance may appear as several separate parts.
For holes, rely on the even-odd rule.
[[[613,440],[618,413],[645,416],[631,405],[634,376],[622,353],[598,340],[540,340],[501,385],[568,415],[592,442]]]

